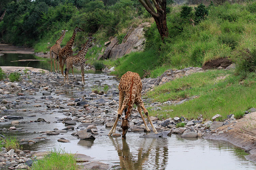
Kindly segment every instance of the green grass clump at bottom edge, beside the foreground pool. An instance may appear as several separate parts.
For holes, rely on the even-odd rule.
[[[53,149],[43,159],[32,164],[33,170],[54,169],[54,170],[77,170],[76,160],[72,154],[66,153],[63,149]]]

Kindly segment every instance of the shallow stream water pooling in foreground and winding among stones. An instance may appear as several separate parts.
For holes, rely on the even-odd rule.
[[[18,58],[18,60],[22,59],[24,58]],[[12,58],[12,61],[14,60],[17,59]],[[8,65],[5,64],[5,66]],[[38,68],[42,68],[41,64],[39,66]],[[85,81],[86,86],[79,86],[79,88],[67,86],[69,89],[67,93],[60,95],[53,92],[51,95],[59,99],[78,98],[81,97],[81,91],[90,90],[95,85],[102,87],[106,84],[111,87],[118,84],[113,77],[106,74],[86,74]],[[44,101],[39,100],[41,96],[42,94],[38,92],[33,96],[35,99],[30,102],[31,104],[20,107],[26,108],[27,112],[17,112],[12,115],[23,116],[24,119],[20,121],[29,122],[44,118],[51,123],[20,123],[16,125],[16,128],[20,128],[20,132],[4,132],[18,139],[33,139],[40,136],[49,139],[31,146],[23,145],[23,149],[49,151],[58,147],[65,148],[69,153],[81,153],[94,157],[94,160],[109,164],[111,169],[256,169],[256,163],[245,159],[246,153],[242,149],[225,141],[183,139],[178,135],[172,135],[169,138],[140,138],[144,133],[131,132],[128,132],[126,140],[122,140],[120,137],[106,136],[110,129],[106,129],[105,126],[97,126],[100,135],[94,141],[80,140],[71,136],[73,131],[56,136],[46,136],[38,132],[65,128],[62,122],[55,123],[54,121],[66,116],[58,112],[58,109],[46,110],[43,109],[45,107],[32,107],[35,104],[44,106]],[[32,115],[34,116],[31,117]],[[78,125],[75,125],[75,129]],[[0,124],[1,129],[4,127],[8,129],[10,126],[12,126],[10,121]],[[70,140],[70,143],[57,142],[57,139],[61,137]]]

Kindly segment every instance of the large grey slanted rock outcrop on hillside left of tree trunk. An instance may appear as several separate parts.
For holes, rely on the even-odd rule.
[[[150,23],[142,23],[135,29],[131,26],[121,44],[118,44],[117,37],[113,38],[102,58],[119,58],[133,51],[142,51],[145,42],[144,27],[150,27]]]

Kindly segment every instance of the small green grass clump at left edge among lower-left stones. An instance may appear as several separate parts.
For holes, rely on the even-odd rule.
[[[6,138],[1,138],[0,140],[0,148],[4,147],[7,151],[14,149],[17,151],[18,149],[22,149],[22,146],[19,145],[19,141],[16,137],[6,136]]]

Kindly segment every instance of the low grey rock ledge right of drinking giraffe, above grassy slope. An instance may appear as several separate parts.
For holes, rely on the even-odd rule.
[[[162,75],[157,78],[142,79],[142,93],[153,89],[155,86],[165,84],[171,80],[181,78],[194,72],[202,72],[200,67],[187,67],[181,70],[166,70]]]

